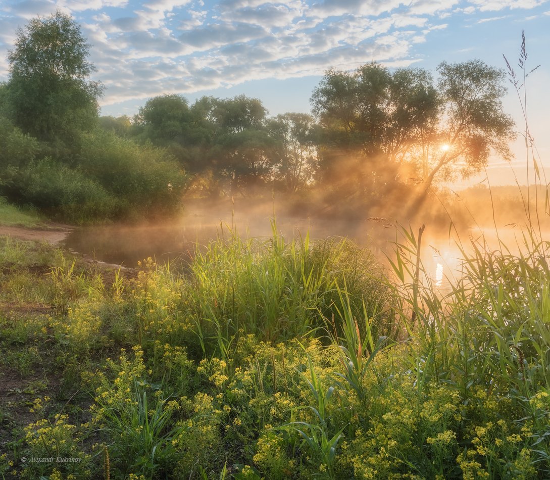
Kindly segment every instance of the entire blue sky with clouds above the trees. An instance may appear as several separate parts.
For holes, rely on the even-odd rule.
[[[184,95],[259,98],[271,115],[309,112],[311,92],[329,68],[376,61],[431,70],[479,58],[518,69],[527,42],[527,116],[537,159],[550,168],[550,0],[0,0],[0,81],[16,30],[56,9],[73,16],[91,44],[93,79],[105,85],[101,113],[138,112],[147,99]],[[509,85],[511,87],[511,85]],[[523,131],[516,92],[504,108]],[[525,145],[513,145],[525,183]],[[493,183],[513,183],[494,157]],[[531,173],[532,176],[532,173]],[[472,182],[485,177],[476,176]]]

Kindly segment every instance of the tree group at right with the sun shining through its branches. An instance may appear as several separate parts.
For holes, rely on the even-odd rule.
[[[324,167],[342,171],[340,159],[354,159],[346,168],[363,192],[414,177],[426,193],[459,161],[467,177],[487,164],[491,149],[508,158],[514,134],[502,110],[504,73],[478,60],[443,62],[438,72],[436,86],[422,69],[329,70],[311,98]]]

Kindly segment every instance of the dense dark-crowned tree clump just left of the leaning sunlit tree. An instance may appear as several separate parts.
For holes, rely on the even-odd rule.
[[[439,105],[426,70],[392,74],[377,63],[353,73],[329,70],[311,101],[322,126],[321,160],[327,176],[351,172],[362,193],[394,180],[396,163],[433,123]]]

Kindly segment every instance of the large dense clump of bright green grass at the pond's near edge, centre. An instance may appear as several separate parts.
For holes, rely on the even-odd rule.
[[[281,341],[322,329],[324,319],[338,313],[344,283],[351,311],[372,319],[370,334],[392,333],[389,292],[370,253],[345,239],[312,242],[306,234],[287,241],[274,221],[272,230],[268,240],[230,231],[228,239],[197,250],[185,293],[203,345],[216,339],[218,353],[226,354],[221,336]]]

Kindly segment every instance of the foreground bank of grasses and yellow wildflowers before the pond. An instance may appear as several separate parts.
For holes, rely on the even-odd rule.
[[[411,231],[392,275],[222,233],[183,273],[1,239],[4,478],[550,475],[546,242],[465,247],[442,298]]]

